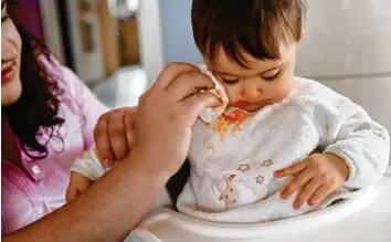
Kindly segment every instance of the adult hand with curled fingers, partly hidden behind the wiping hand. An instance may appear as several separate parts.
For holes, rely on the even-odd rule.
[[[99,117],[94,137],[104,167],[112,167],[129,154],[135,113],[136,107],[124,107],[109,111]]]

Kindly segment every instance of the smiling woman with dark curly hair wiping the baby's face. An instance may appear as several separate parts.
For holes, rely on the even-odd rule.
[[[14,27],[6,1],[1,6],[2,240],[120,240],[183,162],[189,127],[201,108],[218,104],[211,94],[192,94],[212,83],[193,66],[168,66],[140,99],[130,155],[130,140],[124,136],[129,115],[116,111],[104,116],[99,126],[106,128],[97,131],[98,147],[104,147],[99,152],[114,150],[106,160],[125,159],[59,209],[68,167],[92,144],[94,125],[106,108],[39,40]],[[123,140],[120,152],[115,151]]]

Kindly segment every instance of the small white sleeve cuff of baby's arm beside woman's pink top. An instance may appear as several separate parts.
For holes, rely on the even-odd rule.
[[[95,181],[102,177],[107,169],[102,166],[96,155],[95,146],[93,146],[89,150],[84,151],[76,158],[72,164],[71,171],[81,173],[89,180]]]

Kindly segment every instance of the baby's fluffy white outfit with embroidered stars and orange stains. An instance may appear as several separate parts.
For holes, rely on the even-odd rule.
[[[205,109],[192,127],[191,172],[178,198],[180,212],[213,222],[254,223],[317,209],[304,206],[294,210],[295,193],[282,200],[279,192],[290,178],[277,179],[274,171],[318,148],[344,158],[349,167],[346,185],[318,208],[353,196],[383,175],[390,154],[389,134],[347,97],[315,81],[296,77],[286,98],[250,114],[226,109],[223,86],[204,66],[201,70],[215,82],[214,93],[223,104]],[[105,172],[97,159],[86,156],[77,159],[72,170],[92,180]]]

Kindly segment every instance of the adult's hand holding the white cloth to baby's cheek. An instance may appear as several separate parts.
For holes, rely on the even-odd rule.
[[[205,106],[220,104],[213,94],[199,92],[213,87],[198,67],[171,63],[140,97],[131,154],[142,157],[146,170],[167,178],[178,171],[188,155],[190,128],[198,115]]]

